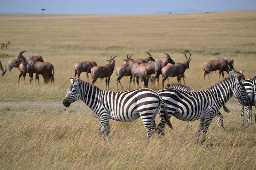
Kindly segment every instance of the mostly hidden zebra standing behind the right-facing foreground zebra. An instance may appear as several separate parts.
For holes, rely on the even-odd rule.
[[[174,89],[180,89],[183,91],[196,91],[196,90],[191,90],[190,87],[186,86],[186,85],[182,85],[179,83],[172,83],[172,84],[167,84],[167,88],[174,88]],[[223,104],[223,110],[227,113],[230,112],[230,110],[226,107],[225,103]],[[217,114],[218,117],[218,122],[217,122],[217,126],[216,126],[216,130],[219,129],[219,126],[221,126],[221,131],[224,131],[224,124],[223,124],[223,116],[220,113],[220,111]],[[189,128],[192,128],[192,121],[186,121],[186,130],[188,130],[188,123],[189,123]]]

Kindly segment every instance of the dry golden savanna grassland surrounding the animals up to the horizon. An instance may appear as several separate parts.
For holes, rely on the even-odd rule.
[[[0,51],[3,67],[8,61],[41,55],[54,65],[54,83],[26,84],[19,70],[0,77],[0,165],[1,169],[256,169],[256,127],[241,125],[236,98],[223,109],[225,131],[216,130],[217,117],[210,124],[204,144],[196,144],[199,121],[186,130],[185,122],[171,118],[174,127],[165,129],[166,142],[157,135],[146,146],[146,130],[141,119],[131,123],[110,120],[112,144],[98,137],[100,122],[92,111],[77,101],[68,108],[62,104],[74,76],[73,65],[94,60],[108,63],[118,55],[115,67],[132,58],[145,58],[144,52],[183,62],[191,53],[185,71],[186,85],[201,90],[218,83],[218,72],[204,80],[203,63],[216,57],[234,59],[237,71],[245,78],[256,74],[256,11],[161,15],[51,15],[0,14]],[[189,54],[187,54],[188,56]],[[227,73],[224,73],[228,77]],[[81,79],[86,80],[82,73]],[[116,90],[116,71],[109,90]],[[92,76],[89,74],[89,80]],[[222,77],[220,78],[221,81]],[[161,78],[160,78],[161,80]],[[123,77],[123,90],[129,78]],[[176,78],[169,78],[176,82]],[[165,82],[165,85],[167,82]],[[105,80],[95,83],[105,90]],[[141,87],[141,82],[140,82]],[[150,89],[158,90],[149,84]],[[121,91],[121,87],[118,86]],[[252,109],[254,113],[255,109]],[[246,119],[246,116],[245,116]],[[159,118],[156,117],[156,123]]]

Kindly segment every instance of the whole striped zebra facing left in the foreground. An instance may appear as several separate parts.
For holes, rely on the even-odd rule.
[[[111,142],[109,119],[132,122],[140,117],[147,131],[147,143],[149,142],[156,129],[156,115],[160,107],[164,107],[163,99],[156,91],[151,89],[101,91],[97,86],[76,77],[75,79],[71,77],[70,81],[71,85],[68,87],[63,105],[68,107],[81,99],[92,110],[93,116],[100,119],[100,137],[105,140],[106,134],[108,141]],[[165,118],[168,120],[167,111],[164,110]]]

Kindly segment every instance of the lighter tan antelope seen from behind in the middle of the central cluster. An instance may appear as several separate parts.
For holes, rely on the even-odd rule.
[[[131,57],[131,56],[130,56]],[[136,88],[140,88],[139,79],[142,82],[142,88],[145,88],[145,78],[147,76],[147,69],[144,66],[140,66],[138,63],[133,62],[133,59],[128,58],[125,62],[125,67],[130,67],[132,79],[133,79],[133,89],[135,85],[135,77],[136,77]]]

